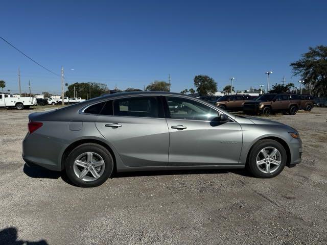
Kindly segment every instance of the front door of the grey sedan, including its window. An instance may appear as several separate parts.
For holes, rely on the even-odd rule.
[[[169,128],[169,165],[237,165],[242,148],[241,126],[214,121],[218,111],[186,97],[165,96]],[[167,104],[178,105],[172,110]]]

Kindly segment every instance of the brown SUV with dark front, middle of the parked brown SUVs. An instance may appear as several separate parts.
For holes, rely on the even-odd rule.
[[[298,94],[268,93],[258,97],[255,101],[245,102],[243,111],[246,114],[263,114],[288,112],[295,115],[301,107],[301,97]]]

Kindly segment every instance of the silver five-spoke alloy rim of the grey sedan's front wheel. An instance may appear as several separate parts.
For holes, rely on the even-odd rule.
[[[256,166],[265,174],[276,171],[281,163],[281,153],[272,146],[265,147],[256,155]]]

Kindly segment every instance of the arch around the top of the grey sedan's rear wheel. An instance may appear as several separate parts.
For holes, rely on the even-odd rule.
[[[69,153],[71,153],[71,151],[73,149],[75,149],[77,146],[79,146],[81,144],[85,144],[85,143],[96,143],[96,144],[100,144],[104,148],[106,148],[110,152],[112,160],[113,160],[113,171],[116,171],[116,163],[117,163],[116,155],[114,154],[113,150],[110,148],[110,146],[108,144],[106,144],[105,142],[103,142],[99,139],[80,139],[80,140],[77,140],[77,141],[69,144],[61,156],[61,162],[60,162],[61,170],[63,170],[65,168],[66,160],[67,160]]]

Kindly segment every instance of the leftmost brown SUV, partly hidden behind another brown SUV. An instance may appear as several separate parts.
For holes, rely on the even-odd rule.
[[[248,94],[224,95],[218,99],[216,106],[228,111],[241,111],[244,102],[249,100],[252,97]]]

